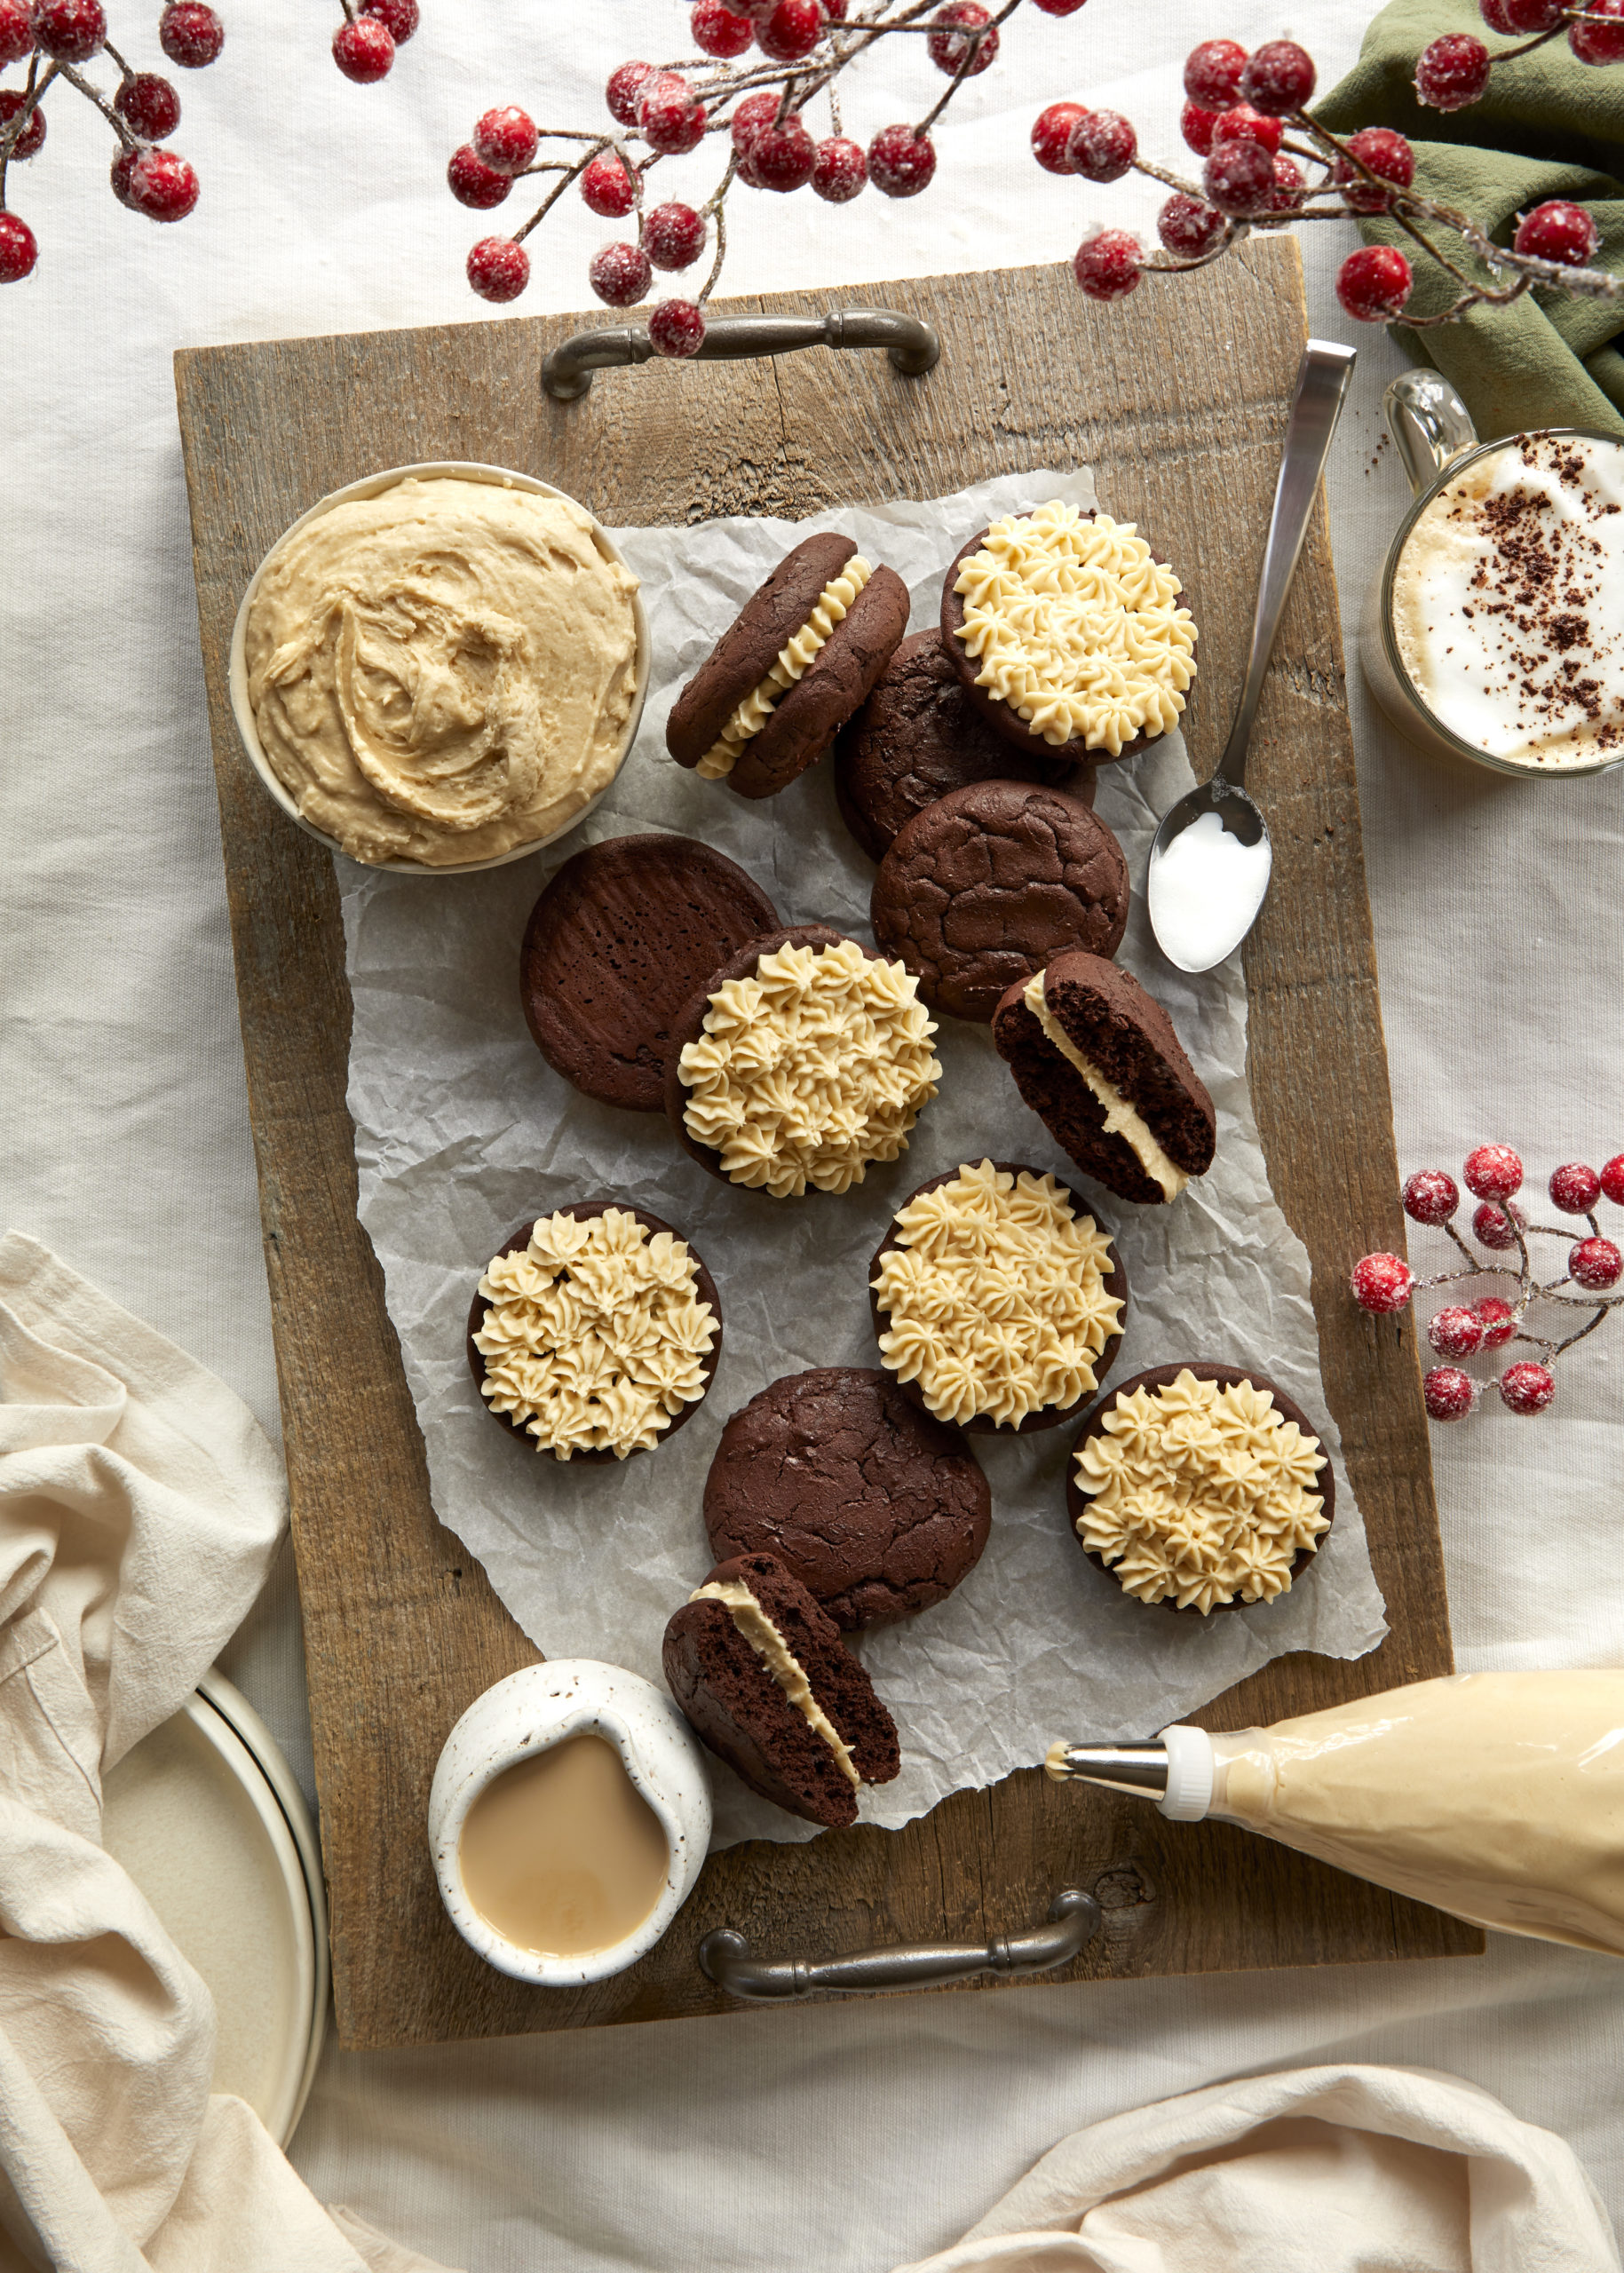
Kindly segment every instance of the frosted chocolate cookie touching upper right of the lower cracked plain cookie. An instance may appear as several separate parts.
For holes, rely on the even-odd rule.
[[[999,1191],[1003,1177],[1010,1177],[1008,1193]],[[1039,1193],[1053,1193],[1055,1223],[1049,1237],[1042,1227],[1019,1232],[1010,1241],[1012,1252],[994,1264],[999,1271],[994,1318],[987,1300],[994,1289],[980,1282],[989,1241],[976,1237],[980,1230],[976,1218],[980,1214],[985,1223],[994,1205],[1012,1216],[1012,1202],[1024,1189],[1028,1191],[1026,1212],[1039,1214],[1030,1202],[1030,1187],[1024,1187],[1021,1177],[1028,1177]],[[935,1282],[926,1282],[908,1300],[894,1300],[885,1289],[885,1264],[912,1239],[908,1234],[910,1209],[928,1193],[958,1184],[967,1187],[967,1234],[958,1243],[951,1237],[937,1237],[933,1241],[939,1255],[939,1264],[933,1264]],[[1076,1239],[1067,1234],[1067,1221],[1078,1225]],[[1071,1252],[1096,1243],[1103,1252],[1094,1264],[1085,1255]],[[1115,1312],[1110,1305],[1117,1305]],[[1071,1341],[1078,1334],[1087,1337],[1089,1312],[1099,1339],[1096,1355],[1087,1366],[1092,1384],[1064,1402],[1033,1402],[1019,1421],[999,1418],[989,1398],[994,1402],[1026,1402],[1033,1389],[1042,1387],[1044,1341],[1060,1339],[1060,1334]],[[1074,1421],[1115,1366],[1128,1316],[1128,1273],[1110,1230],[1080,1191],[1042,1168],[1026,1168],[1010,1159],[983,1159],[978,1166],[962,1164],[944,1175],[926,1177],[896,1209],[892,1227],[869,1264],[869,1316],[887,1373],[919,1412],[953,1421],[969,1437],[1030,1437],[1037,1430]],[[896,1337],[898,1325],[910,1327],[917,1343],[939,1350],[939,1357],[933,1364],[914,1364],[917,1350],[908,1359],[896,1348],[887,1352],[885,1341]],[[989,1325],[992,1334],[987,1334]],[[989,1359],[976,1348],[987,1339],[994,1343]],[[978,1373],[987,1366],[996,1366],[1001,1377],[994,1377],[992,1371]],[[1019,1380],[1021,1373],[1030,1380]],[[951,1402],[946,1414],[942,1412],[944,1402]]]

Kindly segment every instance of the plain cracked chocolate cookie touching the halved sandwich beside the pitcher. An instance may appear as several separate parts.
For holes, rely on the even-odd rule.
[[[848,1632],[946,1600],[989,1525],[962,1432],[871,1366],[771,1382],[728,1421],[705,1480],[716,1562],[776,1555]]]

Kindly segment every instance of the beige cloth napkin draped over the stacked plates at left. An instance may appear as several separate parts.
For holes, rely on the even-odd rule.
[[[102,1773],[187,1700],[284,1516],[223,1382],[0,1239],[0,2266],[441,2273],[209,2093],[209,1991],[100,1846]]]

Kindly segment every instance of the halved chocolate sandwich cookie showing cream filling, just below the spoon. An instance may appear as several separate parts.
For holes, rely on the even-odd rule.
[[[1117,1198],[1155,1207],[1212,1166],[1212,1098],[1174,1021],[1121,964],[1058,955],[1010,986],[992,1039],[1055,1143]]]

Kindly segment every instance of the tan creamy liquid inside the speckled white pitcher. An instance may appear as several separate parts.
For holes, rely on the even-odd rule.
[[[605,1737],[569,1737],[503,1768],[457,1846],[469,1900],[514,1948],[555,1957],[637,1932],[666,1882],[660,1816]]]

